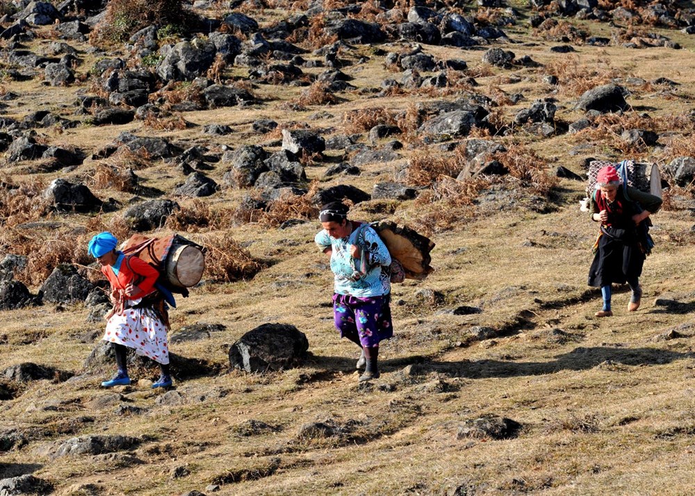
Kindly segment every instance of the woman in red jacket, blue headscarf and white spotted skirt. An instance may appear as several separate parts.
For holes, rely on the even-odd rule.
[[[99,233],[90,241],[89,252],[101,265],[101,273],[111,284],[113,310],[107,315],[104,340],[113,343],[118,365],[117,374],[101,386],[128,386],[126,347],[159,363],[161,377],[153,388],[172,385],[167,345],[168,319],[163,298],[154,288],[159,273],[136,256],[117,251],[111,233]]]

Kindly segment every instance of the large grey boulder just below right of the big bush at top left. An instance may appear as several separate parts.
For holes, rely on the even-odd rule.
[[[215,44],[202,38],[179,42],[159,63],[156,72],[163,81],[193,81],[207,72],[216,53]]]

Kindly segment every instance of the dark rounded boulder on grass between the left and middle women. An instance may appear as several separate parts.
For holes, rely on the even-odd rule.
[[[231,345],[229,364],[246,372],[284,370],[301,365],[309,341],[289,324],[263,324]]]

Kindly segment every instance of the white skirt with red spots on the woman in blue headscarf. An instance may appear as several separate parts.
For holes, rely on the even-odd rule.
[[[104,340],[134,348],[140,356],[169,363],[167,328],[151,308],[126,308],[106,321]]]

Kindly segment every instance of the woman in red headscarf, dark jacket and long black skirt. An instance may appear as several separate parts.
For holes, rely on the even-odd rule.
[[[594,262],[589,270],[589,286],[601,288],[603,308],[596,317],[610,317],[611,285],[628,283],[632,295],[628,311],[639,308],[642,290],[639,276],[651,247],[647,234],[649,215],[657,212],[662,200],[621,183],[612,165],[598,171],[597,189],[591,195],[591,220],[600,222],[594,245]]]

